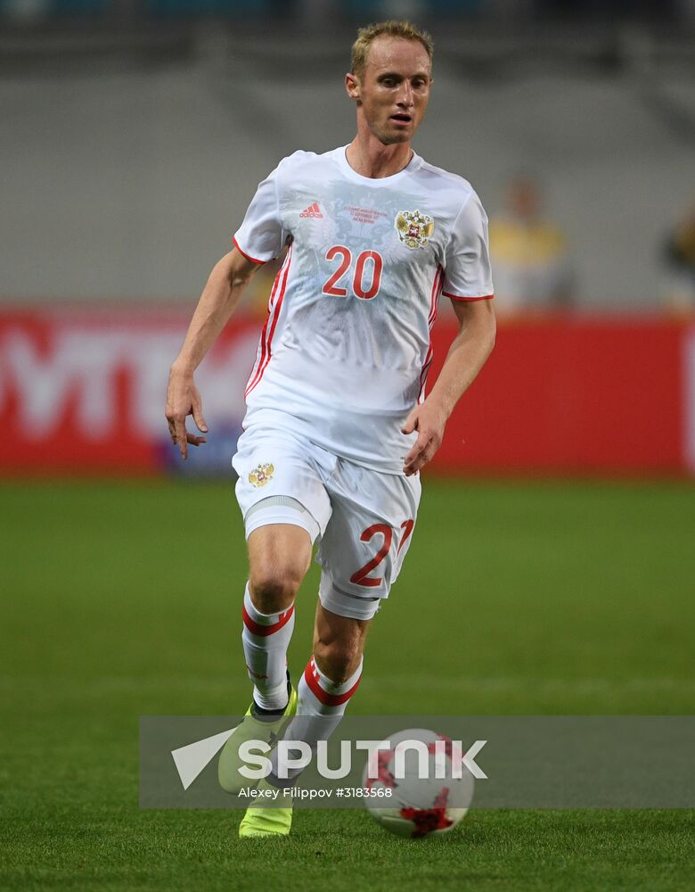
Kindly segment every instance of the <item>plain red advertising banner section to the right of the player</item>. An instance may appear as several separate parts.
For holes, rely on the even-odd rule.
[[[695,379],[686,361],[692,343],[684,326],[654,319],[500,326],[495,352],[447,427],[437,465],[575,474],[679,474],[689,464],[693,470],[687,419]],[[442,361],[445,344],[437,346]]]

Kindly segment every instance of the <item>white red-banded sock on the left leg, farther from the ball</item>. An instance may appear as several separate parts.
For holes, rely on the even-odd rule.
[[[262,614],[253,605],[249,583],[244,592],[241,640],[253,698],[262,709],[287,706],[287,648],[294,630],[294,604],[282,613]]]

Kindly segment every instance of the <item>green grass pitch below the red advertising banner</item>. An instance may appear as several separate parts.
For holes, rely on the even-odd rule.
[[[695,492],[426,481],[354,713],[691,713]],[[693,888],[695,812],[478,811],[402,840],[301,810],[141,811],[140,714],[233,714],[245,554],[224,483],[37,483],[2,495],[0,888]],[[317,570],[298,599],[295,676]]]

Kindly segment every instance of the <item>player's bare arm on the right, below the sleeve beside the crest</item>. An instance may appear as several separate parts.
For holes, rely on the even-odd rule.
[[[459,333],[446,354],[437,382],[427,399],[405,420],[404,434],[417,431],[413,449],[405,456],[406,476],[414,474],[434,457],[444,439],[444,429],[454,406],[475,381],[495,346],[493,301],[452,301]]]

